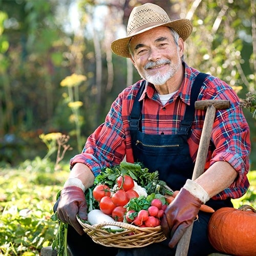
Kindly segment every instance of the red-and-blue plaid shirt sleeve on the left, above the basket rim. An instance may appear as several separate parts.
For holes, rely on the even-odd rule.
[[[140,81],[118,95],[104,123],[88,137],[82,153],[71,159],[71,168],[75,163],[84,163],[97,176],[101,168],[117,165],[124,157],[134,162],[128,116],[139,86]]]

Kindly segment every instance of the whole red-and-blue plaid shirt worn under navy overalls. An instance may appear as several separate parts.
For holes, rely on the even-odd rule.
[[[142,107],[142,132],[147,134],[176,134],[183,119],[186,105],[190,104],[191,84],[199,71],[185,63],[185,75],[179,91],[162,105],[152,86],[147,84],[140,100]],[[111,109],[95,132],[88,138],[83,152],[71,159],[71,168],[84,163],[98,175],[104,166],[119,164],[124,157],[134,162],[129,132],[129,116],[141,81],[125,88],[112,103]],[[222,99],[230,101],[230,108],[216,112],[205,169],[216,161],[230,163],[238,172],[238,178],[215,199],[239,198],[249,187],[246,174],[249,171],[249,126],[240,107],[237,94],[227,83],[208,76],[201,88],[198,100]],[[195,161],[205,118],[205,111],[196,110],[188,139],[191,158]],[[213,148],[213,149],[212,149]]]

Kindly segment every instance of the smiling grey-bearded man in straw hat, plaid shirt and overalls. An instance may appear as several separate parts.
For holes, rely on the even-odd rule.
[[[184,41],[192,29],[190,20],[171,21],[159,6],[144,4],[133,9],[127,37],[112,42],[112,51],[130,58],[142,79],[118,95],[105,122],[71,159],[70,178],[55,208],[59,219],[69,223],[73,255],[89,255],[89,246],[94,246],[94,254],[174,255],[192,222],[188,255],[207,255],[214,252],[207,238],[211,214],[199,211],[200,206],[232,207],[231,198],[248,189],[249,128],[239,98],[226,82],[184,62]],[[195,110],[194,103],[204,99],[229,100],[230,107],[217,111],[204,173],[192,181],[205,118],[205,111]],[[158,170],[159,178],[180,192],[161,221],[167,240],[141,248],[102,248],[83,233],[76,215],[87,219],[84,191],[102,167],[117,165],[124,157]]]

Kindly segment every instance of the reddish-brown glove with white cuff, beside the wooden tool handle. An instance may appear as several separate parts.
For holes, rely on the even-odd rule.
[[[197,218],[201,205],[208,200],[208,193],[199,184],[186,181],[179,194],[165,209],[161,219],[162,231],[170,238],[170,248],[174,248],[179,242],[186,228]]]

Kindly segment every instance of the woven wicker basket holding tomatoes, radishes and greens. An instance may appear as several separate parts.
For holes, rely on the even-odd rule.
[[[83,231],[88,233],[95,243],[107,247],[143,247],[153,243],[159,243],[166,239],[161,226],[140,228],[123,222],[105,222],[89,225],[81,221],[79,217],[77,217],[77,220],[83,227]],[[109,225],[121,227],[121,230],[115,233],[109,232],[104,229],[104,227]]]

